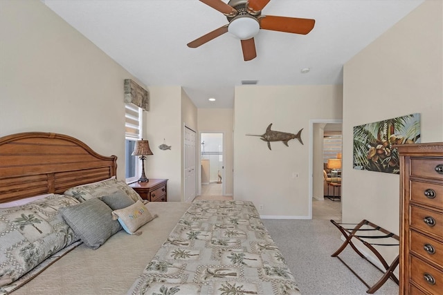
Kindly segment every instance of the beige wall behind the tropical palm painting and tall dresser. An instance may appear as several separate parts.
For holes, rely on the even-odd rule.
[[[344,66],[343,222],[399,234],[399,175],[352,169],[353,126],[421,114],[422,142],[443,141],[442,1],[426,1]]]

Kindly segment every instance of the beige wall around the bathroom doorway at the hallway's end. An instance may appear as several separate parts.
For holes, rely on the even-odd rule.
[[[233,195],[233,109],[232,108],[199,108],[199,135],[205,132],[224,133],[224,185],[225,195]],[[200,139],[200,136],[199,136]],[[199,146],[201,148],[201,146]],[[200,157],[197,157],[199,159]],[[201,172],[199,172],[201,173]],[[201,182],[199,182],[199,186]]]

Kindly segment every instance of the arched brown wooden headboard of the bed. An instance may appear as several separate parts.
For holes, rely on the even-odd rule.
[[[115,155],[99,155],[68,135],[26,132],[0,137],[0,202],[63,193],[116,172]]]

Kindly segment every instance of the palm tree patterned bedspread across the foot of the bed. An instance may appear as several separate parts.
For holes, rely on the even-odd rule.
[[[300,294],[252,202],[196,200],[128,294]]]

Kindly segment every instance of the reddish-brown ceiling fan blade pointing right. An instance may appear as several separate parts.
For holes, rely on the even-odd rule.
[[[280,32],[292,32],[306,35],[311,32],[316,23],[315,19],[298,19],[296,17],[274,17],[265,15],[260,17],[260,28],[264,30],[276,30]]]

